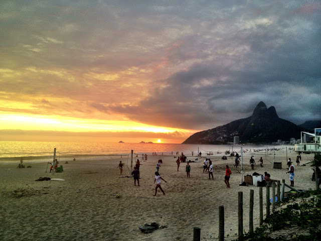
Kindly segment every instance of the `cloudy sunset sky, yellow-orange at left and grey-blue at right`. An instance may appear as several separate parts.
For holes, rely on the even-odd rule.
[[[321,119],[320,1],[0,2],[0,141],[182,143]]]

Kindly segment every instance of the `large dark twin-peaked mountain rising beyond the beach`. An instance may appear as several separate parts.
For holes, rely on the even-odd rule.
[[[261,101],[251,116],[195,133],[182,144],[227,144],[233,142],[234,136],[238,136],[241,143],[271,143],[279,139],[282,141],[289,141],[290,138],[299,139],[301,131],[307,130],[279,118],[274,106],[267,108]]]

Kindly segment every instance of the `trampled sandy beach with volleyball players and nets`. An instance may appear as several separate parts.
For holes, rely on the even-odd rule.
[[[218,154],[222,156],[224,154]],[[252,174],[249,159],[254,156],[255,172],[267,171],[272,179],[289,185],[286,174],[286,154],[275,152],[275,162],[282,169],[273,169],[273,153],[247,152],[243,154],[244,175]],[[311,166],[296,166],[296,153],[288,152],[295,165],[294,187],[314,189]],[[301,154],[300,164],[308,163],[313,154]],[[263,157],[264,168],[258,160]],[[159,169],[166,193],[154,197],[154,172],[157,159],[163,159]],[[202,158],[203,160],[203,158]],[[0,239],[1,240],[193,240],[193,227],[201,228],[201,240],[218,237],[219,206],[225,209],[226,240],[236,239],[238,232],[238,192],[243,192],[244,231],[248,231],[249,193],[254,190],[254,225],[259,224],[259,188],[239,186],[242,175],[229,161],[232,171],[230,185],[224,183],[225,162],[214,162],[214,180],[203,173],[203,162],[192,163],[191,178],[186,177],[185,163],[177,171],[174,157],[149,156],[141,162],[140,186],[134,186],[127,159],[122,175],[117,165],[84,165],[60,163],[62,173],[47,173],[47,163],[18,162],[0,165]],[[117,160],[118,162],[118,160]],[[168,165],[166,165],[168,164]],[[65,181],[35,181],[39,177],[61,178]],[[285,188],[285,191],[288,191]],[[120,197],[117,198],[116,194]],[[272,193],[272,192],[271,192]],[[272,195],[272,194],[271,194]],[[265,188],[263,188],[265,206]],[[265,216],[265,209],[263,211]],[[142,233],[139,226],[157,222],[164,228]]]

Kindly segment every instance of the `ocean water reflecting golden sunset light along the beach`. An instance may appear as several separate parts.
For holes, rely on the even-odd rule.
[[[246,149],[266,148],[266,146],[255,145],[190,145],[190,144],[156,144],[156,143],[95,143],[95,142],[0,142],[0,163],[1,162],[19,162],[21,158],[24,160],[35,162],[52,161],[54,148],[56,155],[129,155],[131,150],[135,154],[152,155],[174,155],[176,152],[183,152],[189,156],[194,152],[194,156],[198,152],[206,154],[207,152],[216,153],[219,156],[225,154],[225,151],[240,152],[241,147]],[[279,148],[280,146],[278,146]]]

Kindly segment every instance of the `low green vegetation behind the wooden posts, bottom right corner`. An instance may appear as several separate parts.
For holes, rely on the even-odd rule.
[[[287,200],[285,208],[274,211],[264,222],[253,233],[246,233],[244,240],[320,240],[321,189],[296,194]]]

